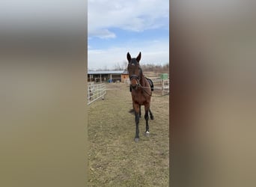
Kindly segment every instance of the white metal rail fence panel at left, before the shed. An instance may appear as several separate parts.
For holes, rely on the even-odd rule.
[[[96,101],[97,99],[104,99],[104,95],[106,94],[106,84],[93,84],[88,85],[88,105],[91,104],[91,102]]]

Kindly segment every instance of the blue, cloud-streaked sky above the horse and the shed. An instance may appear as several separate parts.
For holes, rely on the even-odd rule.
[[[88,0],[88,69],[169,62],[168,0]]]

